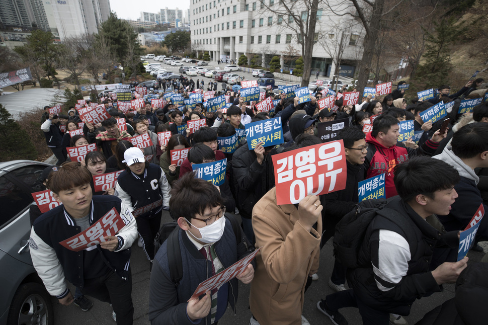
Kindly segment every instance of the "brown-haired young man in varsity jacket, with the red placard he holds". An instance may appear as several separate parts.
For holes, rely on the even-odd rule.
[[[66,280],[86,295],[110,302],[117,324],[132,324],[129,267],[137,236],[132,214],[114,196],[93,196],[92,175],[77,162],[51,173],[47,187],[62,205],[36,219],[32,262],[47,291],[63,305],[73,302]]]

